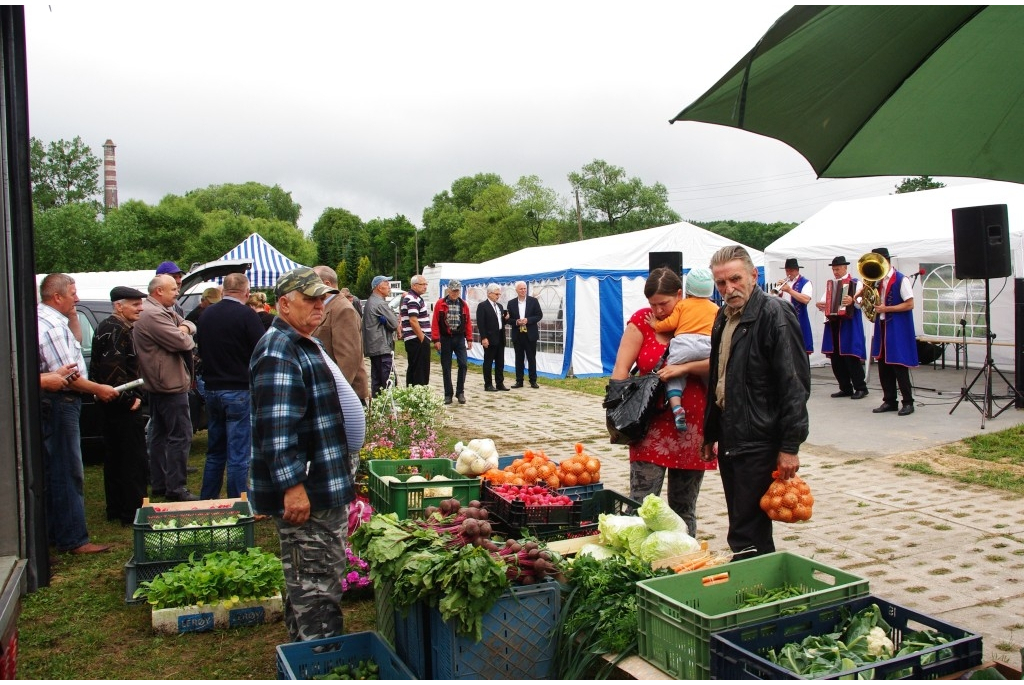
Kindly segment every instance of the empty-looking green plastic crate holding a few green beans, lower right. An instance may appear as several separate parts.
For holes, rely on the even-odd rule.
[[[709,575],[728,573],[723,583],[705,586]],[[744,593],[784,585],[804,591],[791,597],[740,608]],[[638,652],[666,673],[684,680],[711,675],[711,634],[814,609],[867,595],[867,581],[791,552],[773,552],[702,570],[637,583]]]

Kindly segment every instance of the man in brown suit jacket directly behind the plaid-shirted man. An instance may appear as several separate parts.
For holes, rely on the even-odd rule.
[[[338,273],[330,266],[314,266],[313,271],[324,285],[338,288]],[[359,401],[370,401],[370,383],[367,366],[362,362],[362,319],[352,303],[341,294],[329,293],[324,300],[324,319],[313,331],[313,337],[324,343],[324,349],[341,369],[342,375],[352,386]],[[358,300],[356,300],[358,301]]]

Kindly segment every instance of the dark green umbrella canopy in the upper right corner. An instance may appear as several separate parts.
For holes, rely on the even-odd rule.
[[[794,7],[672,121],[776,138],[819,177],[1024,182],[1024,7]]]

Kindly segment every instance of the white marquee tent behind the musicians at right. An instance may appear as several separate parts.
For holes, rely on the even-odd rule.
[[[961,207],[1007,205],[1013,273],[1024,276],[1024,185],[984,181],[864,200],[835,202],[765,249],[765,279],[774,283],[785,273],[787,257],[796,257],[802,273],[814,287],[814,300],[833,277],[831,259],[843,255],[856,274],[857,260],[877,247],[886,247],[894,266],[913,280],[914,326],[919,336],[957,338],[967,334],[975,342],[984,339],[983,281],[957,282],[953,275],[952,210]],[[992,333],[997,346],[992,357],[1004,371],[1013,373],[1014,281],[992,279]],[[965,319],[966,327],[959,322]],[[814,349],[821,349],[824,317],[811,313]],[[868,344],[871,326],[865,322]],[[971,366],[984,360],[984,346],[971,344]],[[815,351],[812,363],[826,363]]]

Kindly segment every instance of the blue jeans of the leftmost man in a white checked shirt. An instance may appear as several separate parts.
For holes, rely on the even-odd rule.
[[[85,527],[85,469],[82,466],[82,396],[40,393],[46,469],[46,530],[61,552],[89,542]]]

